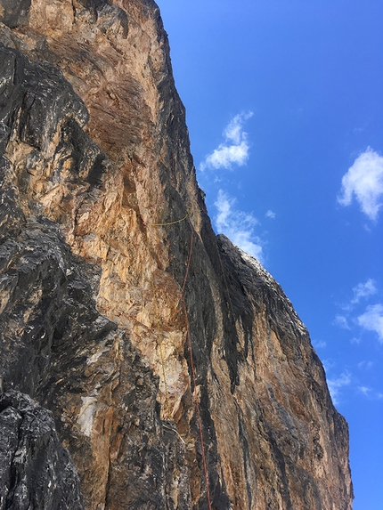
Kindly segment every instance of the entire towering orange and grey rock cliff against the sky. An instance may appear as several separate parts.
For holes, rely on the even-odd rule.
[[[306,328],[211,228],[157,5],[0,21],[0,508],[82,508],[73,461],[87,510],[351,509]]]

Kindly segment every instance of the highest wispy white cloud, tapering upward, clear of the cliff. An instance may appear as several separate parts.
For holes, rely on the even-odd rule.
[[[243,166],[249,159],[248,134],[242,129],[243,124],[253,113],[238,114],[224,128],[224,143],[202,161],[200,170],[206,168],[231,168],[232,165]]]

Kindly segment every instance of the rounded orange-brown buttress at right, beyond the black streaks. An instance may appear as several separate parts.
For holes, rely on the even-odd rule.
[[[225,466],[238,469],[235,458],[241,457],[248,481],[249,473],[254,475],[244,507],[254,505],[251,487],[257,486],[257,508],[348,508],[348,428],[330,401],[306,328],[255,259],[224,236],[218,243],[228,266],[236,322],[253,320],[252,335],[243,335],[238,345],[240,384],[234,403],[241,423],[232,431],[238,457]],[[217,412],[219,422],[226,423],[228,409]]]

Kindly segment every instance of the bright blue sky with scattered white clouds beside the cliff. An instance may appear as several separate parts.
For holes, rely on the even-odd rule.
[[[159,0],[217,232],[306,323],[383,508],[383,3]]]

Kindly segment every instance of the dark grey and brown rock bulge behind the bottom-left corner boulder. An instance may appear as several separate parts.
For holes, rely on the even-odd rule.
[[[20,208],[16,193],[2,192],[6,227]],[[87,507],[189,508],[183,441],[159,420],[158,378],[126,334],[95,310],[100,271],[71,255],[58,225],[44,217],[3,231],[11,234],[0,246],[4,389],[16,387],[53,409]],[[44,449],[47,463],[55,462],[57,443]],[[25,474],[31,491],[34,477],[32,466]],[[47,481],[54,480],[48,470]]]

